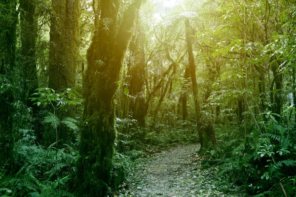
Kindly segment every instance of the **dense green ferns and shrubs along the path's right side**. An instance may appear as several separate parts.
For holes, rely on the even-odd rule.
[[[225,184],[242,185],[250,196],[294,197],[296,124],[271,119],[263,126],[260,131],[248,125],[245,137],[243,127],[217,126],[218,146],[208,151],[203,165],[217,165]]]

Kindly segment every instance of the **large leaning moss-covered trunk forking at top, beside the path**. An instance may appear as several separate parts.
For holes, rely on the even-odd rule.
[[[119,0],[100,1],[97,6],[102,23],[87,52],[88,67],[84,78],[84,126],[77,163],[77,193],[80,196],[105,196],[111,182],[115,140],[113,98],[121,61],[141,2],[135,0],[126,9],[120,24]]]

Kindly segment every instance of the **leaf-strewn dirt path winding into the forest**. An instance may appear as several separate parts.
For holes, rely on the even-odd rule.
[[[203,168],[199,145],[180,145],[135,164],[121,197],[244,197],[242,188],[225,184],[217,167]]]

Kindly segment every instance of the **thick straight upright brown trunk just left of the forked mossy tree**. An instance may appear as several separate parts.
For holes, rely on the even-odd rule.
[[[48,87],[61,92],[64,88],[74,88],[79,36],[80,0],[52,0],[52,14],[50,19],[50,48]],[[73,106],[67,106],[67,112],[58,114],[62,117],[74,118]],[[51,109],[52,110],[52,109]],[[62,128],[59,139],[72,141],[73,130]],[[49,132],[49,130],[48,130]],[[50,133],[45,136],[46,141],[55,140]]]

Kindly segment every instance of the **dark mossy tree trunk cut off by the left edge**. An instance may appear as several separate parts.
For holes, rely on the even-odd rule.
[[[0,171],[13,166],[13,69],[16,43],[16,0],[0,1]]]

